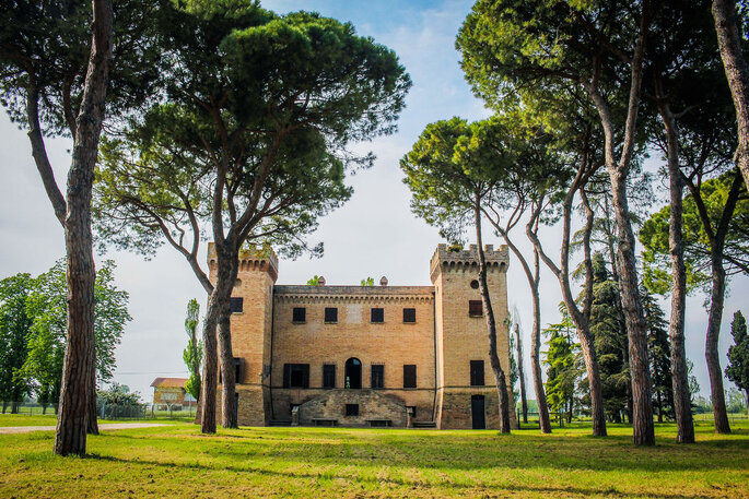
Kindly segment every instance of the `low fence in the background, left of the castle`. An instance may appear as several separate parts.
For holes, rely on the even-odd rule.
[[[100,400],[96,403],[96,415],[100,419],[194,419],[197,407],[180,404],[107,404]],[[4,402],[3,414],[25,416],[54,416],[57,413],[55,404],[39,404],[36,402]]]

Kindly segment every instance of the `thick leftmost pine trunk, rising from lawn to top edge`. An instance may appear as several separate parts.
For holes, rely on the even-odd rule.
[[[91,352],[94,342],[94,259],[91,235],[91,190],[104,120],[113,44],[108,0],[93,0],[92,46],[77,118],[73,158],[68,173],[65,218],[68,260],[68,335],[62,365],[60,414],[55,453],[85,454],[91,408]]]

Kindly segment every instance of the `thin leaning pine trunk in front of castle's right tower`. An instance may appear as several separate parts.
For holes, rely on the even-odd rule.
[[[510,394],[507,393],[507,380],[500,364],[500,356],[496,354],[496,323],[494,322],[494,310],[492,309],[489,286],[487,285],[487,259],[483,254],[483,242],[481,240],[481,197],[478,192],[475,199],[473,216],[476,222],[476,246],[479,253],[479,290],[481,292],[483,317],[487,320],[487,332],[489,333],[489,363],[494,372],[496,391],[500,397],[500,432],[510,433]]]

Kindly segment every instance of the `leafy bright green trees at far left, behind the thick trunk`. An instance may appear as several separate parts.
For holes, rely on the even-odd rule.
[[[106,260],[94,284],[95,369],[107,382],[116,368],[115,348],[130,321],[128,294],[115,285],[115,262]],[[58,411],[68,335],[66,263],[59,260],[37,277],[16,274],[0,281],[0,402],[17,412],[34,396],[44,412]],[[91,387],[94,404],[96,383]],[[96,430],[96,419],[92,430]]]

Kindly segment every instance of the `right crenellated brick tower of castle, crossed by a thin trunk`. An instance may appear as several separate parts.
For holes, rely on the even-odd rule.
[[[507,331],[507,247],[494,251],[485,246],[487,283],[494,318],[500,363],[510,376]],[[489,361],[487,323],[478,286],[479,260],[476,245],[450,251],[438,245],[430,274],[435,290],[438,428],[499,428],[499,396]],[[512,388],[510,379],[507,387]],[[510,407],[516,425],[514,404]]]

